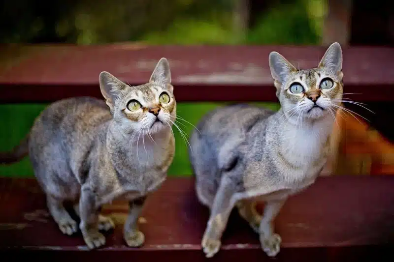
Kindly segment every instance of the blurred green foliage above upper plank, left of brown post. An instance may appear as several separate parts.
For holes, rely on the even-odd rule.
[[[234,29],[243,0],[0,0],[0,41],[102,44],[317,44],[326,0],[270,0]],[[15,15],[18,14],[18,15]]]

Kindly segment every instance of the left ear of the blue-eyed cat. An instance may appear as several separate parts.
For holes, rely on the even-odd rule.
[[[278,52],[271,52],[268,61],[271,76],[277,84],[284,84],[289,74],[297,71],[296,67]]]

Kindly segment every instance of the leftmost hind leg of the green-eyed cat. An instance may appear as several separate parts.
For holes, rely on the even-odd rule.
[[[70,217],[63,205],[63,200],[47,194],[47,205],[53,219],[58,224],[59,229],[64,233],[71,235],[77,232],[77,223]]]

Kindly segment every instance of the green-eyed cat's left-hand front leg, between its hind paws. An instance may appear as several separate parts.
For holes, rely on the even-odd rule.
[[[82,186],[79,199],[79,216],[83,239],[90,248],[98,248],[105,244],[105,236],[99,233],[99,210],[96,208],[95,194],[88,186]]]

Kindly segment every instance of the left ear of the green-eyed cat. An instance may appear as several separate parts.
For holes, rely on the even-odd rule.
[[[126,87],[126,84],[105,71],[100,73],[99,78],[101,94],[112,111],[116,99],[120,96],[121,90]]]

